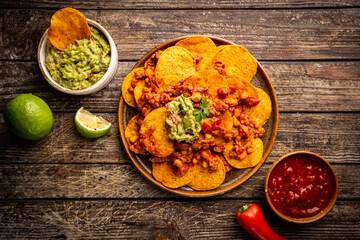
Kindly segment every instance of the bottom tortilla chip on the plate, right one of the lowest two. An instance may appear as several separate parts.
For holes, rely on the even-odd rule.
[[[199,174],[188,183],[188,186],[194,190],[211,190],[220,186],[225,180],[226,171],[224,163],[219,157],[218,159],[217,171],[211,171],[209,167],[201,167]]]

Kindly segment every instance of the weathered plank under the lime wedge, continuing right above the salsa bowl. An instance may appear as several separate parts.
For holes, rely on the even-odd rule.
[[[14,136],[0,115],[0,163],[129,163],[119,136],[117,116],[101,114],[114,125],[99,139],[83,138],[74,127],[74,113],[54,114],[51,133],[30,142]],[[316,152],[332,163],[359,163],[359,114],[280,114],[273,162],[294,150]]]

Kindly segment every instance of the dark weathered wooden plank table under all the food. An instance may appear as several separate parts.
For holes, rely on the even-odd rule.
[[[246,203],[291,239],[360,239],[360,2],[357,0],[1,1],[0,110],[15,96],[43,98],[54,114],[40,141],[15,137],[0,118],[0,237],[51,239],[250,239],[235,220]],[[90,96],[54,90],[36,61],[54,12],[74,7],[113,36],[119,66]],[[119,136],[121,84],[136,61],[172,38],[208,34],[246,47],[276,89],[280,123],[260,170],[217,197],[189,199],[150,183]],[[74,128],[81,106],[114,124],[89,140]],[[271,164],[293,150],[325,157],[339,197],[323,219],[295,225],[278,218],[263,190]]]

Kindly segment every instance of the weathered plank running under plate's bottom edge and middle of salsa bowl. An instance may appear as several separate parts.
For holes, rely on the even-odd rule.
[[[265,164],[221,198],[265,198],[269,167]],[[333,168],[339,181],[339,199],[360,199],[360,165],[336,164]],[[177,197],[152,184],[133,165],[6,164],[0,165],[0,179],[1,199]]]

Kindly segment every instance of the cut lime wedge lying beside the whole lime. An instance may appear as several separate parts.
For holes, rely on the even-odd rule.
[[[110,131],[111,123],[81,107],[75,114],[75,127],[86,138],[98,138]]]

